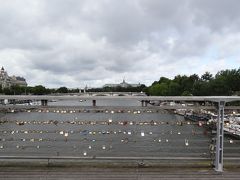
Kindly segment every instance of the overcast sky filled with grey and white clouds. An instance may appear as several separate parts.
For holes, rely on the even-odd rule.
[[[0,0],[0,66],[29,85],[150,85],[240,64],[239,0]]]

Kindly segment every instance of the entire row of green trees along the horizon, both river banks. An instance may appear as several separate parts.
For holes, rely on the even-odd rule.
[[[88,89],[87,92],[145,92],[151,96],[231,96],[240,95],[240,68],[219,71],[215,76],[206,72],[201,76],[197,74],[177,75],[173,79],[160,77],[151,86],[146,87],[103,87]],[[2,89],[0,94],[6,95],[46,95],[57,93],[79,93],[79,89],[60,87],[58,89],[38,86],[12,86]]]

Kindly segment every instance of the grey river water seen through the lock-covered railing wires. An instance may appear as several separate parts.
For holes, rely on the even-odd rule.
[[[59,101],[51,106],[88,107],[91,102]],[[4,115],[2,156],[210,157],[213,135],[196,122],[164,110],[141,109],[135,101],[98,101],[104,111],[30,110]],[[119,106],[129,111],[108,110]],[[97,107],[96,107],[97,109]],[[239,155],[239,141],[225,138],[226,155]]]

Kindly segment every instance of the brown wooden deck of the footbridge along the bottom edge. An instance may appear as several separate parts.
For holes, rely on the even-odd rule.
[[[232,179],[240,177],[238,170],[225,170],[216,173],[211,169],[184,169],[184,168],[20,168],[5,167],[0,170],[2,180],[156,180],[156,179]]]

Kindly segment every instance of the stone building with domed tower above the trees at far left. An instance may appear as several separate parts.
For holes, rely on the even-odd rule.
[[[2,89],[10,88],[11,86],[27,86],[27,82],[23,77],[19,76],[8,76],[7,71],[2,67],[0,71],[0,86]]]

